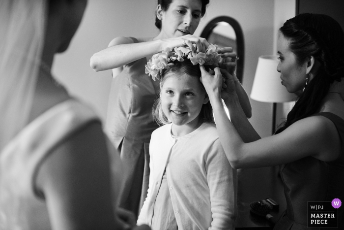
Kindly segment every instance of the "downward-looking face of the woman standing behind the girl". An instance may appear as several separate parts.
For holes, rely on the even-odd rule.
[[[166,11],[160,10],[162,32],[168,38],[194,34],[201,20],[201,8],[201,0],[173,0]]]

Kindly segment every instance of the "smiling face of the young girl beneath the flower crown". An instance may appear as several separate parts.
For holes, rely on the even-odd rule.
[[[169,76],[170,75],[170,76]],[[173,125],[196,130],[203,104],[209,101],[199,77],[170,73],[161,88],[161,106]]]

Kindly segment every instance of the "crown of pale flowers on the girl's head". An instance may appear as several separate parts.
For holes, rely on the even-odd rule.
[[[196,44],[193,44],[196,48]],[[210,44],[205,53],[193,53],[188,46],[179,46],[172,48],[167,47],[162,53],[154,54],[145,66],[145,73],[152,76],[153,80],[160,79],[160,73],[164,68],[170,68],[174,61],[183,62],[184,59],[190,59],[193,65],[214,65],[218,66],[222,62],[220,54],[217,53],[217,45]]]

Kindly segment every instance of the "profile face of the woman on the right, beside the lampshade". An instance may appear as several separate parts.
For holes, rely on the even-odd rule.
[[[296,62],[296,56],[289,49],[289,40],[283,35],[278,37],[278,54],[280,63],[277,71],[281,73],[282,85],[287,88],[289,93],[302,90],[306,84],[307,62],[301,66]]]

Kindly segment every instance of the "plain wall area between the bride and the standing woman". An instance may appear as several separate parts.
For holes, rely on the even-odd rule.
[[[91,56],[117,36],[150,36],[156,0],[88,0],[83,21],[68,50],[56,55],[53,74],[69,92],[89,102],[105,121],[111,70],[94,72]],[[144,66],[143,66],[144,67]]]

